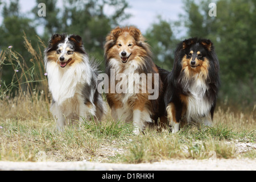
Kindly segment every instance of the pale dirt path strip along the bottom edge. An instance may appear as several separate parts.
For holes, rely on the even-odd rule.
[[[162,171],[162,170],[249,170],[256,171],[256,160],[167,160],[156,163],[112,164],[90,162],[0,162],[0,170],[101,170],[101,171]]]

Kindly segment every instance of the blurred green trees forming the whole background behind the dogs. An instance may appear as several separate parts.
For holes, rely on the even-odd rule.
[[[129,7],[129,1],[64,0],[61,8],[57,6],[57,0],[36,0],[36,2],[46,4],[46,17],[38,16],[38,6],[34,7],[28,16],[20,13],[21,1],[11,0],[6,3],[0,0],[0,12],[3,18],[0,24],[0,84],[3,86],[14,82],[13,72],[21,65],[34,68],[32,80],[35,81],[35,78],[45,80],[41,68],[43,59],[39,57],[42,56],[49,37],[62,32],[82,36],[86,51],[99,61],[100,69],[104,71],[105,37],[112,28],[119,25],[118,22],[131,16],[125,11]],[[177,43],[193,36],[208,38],[214,43],[220,61],[221,104],[232,105],[237,109],[254,107],[256,1],[214,1],[217,5],[217,17],[208,15],[210,2],[184,0],[184,11],[180,13],[177,22],[164,20],[161,15],[156,17],[155,23],[152,23],[144,34],[154,53],[154,61],[160,67],[171,71]],[[114,13],[106,15],[105,7],[112,7]],[[130,25],[132,24],[127,24]],[[39,26],[43,26],[43,33],[40,35],[36,31]],[[187,35],[178,38],[174,30],[179,28],[185,29]],[[13,48],[10,49],[9,46]],[[7,64],[5,61],[8,57],[19,61],[15,63],[16,65]],[[33,59],[38,59],[37,65]],[[20,74],[16,75],[16,79],[22,76],[22,73],[16,74]],[[36,88],[37,82],[33,84]]]

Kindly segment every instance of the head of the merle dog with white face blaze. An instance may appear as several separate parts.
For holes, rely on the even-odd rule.
[[[55,34],[49,40],[45,53],[47,61],[55,61],[65,68],[82,61],[85,50],[79,35]]]

